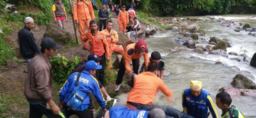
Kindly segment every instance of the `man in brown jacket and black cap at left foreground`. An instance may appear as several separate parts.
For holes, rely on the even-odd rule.
[[[64,118],[60,108],[52,100],[52,76],[50,56],[60,49],[54,40],[43,38],[41,53],[30,62],[28,78],[25,80],[24,95],[29,103],[29,118]],[[49,104],[50,109],[47,108]],[[61,114],[61,115],[60,115]]]

